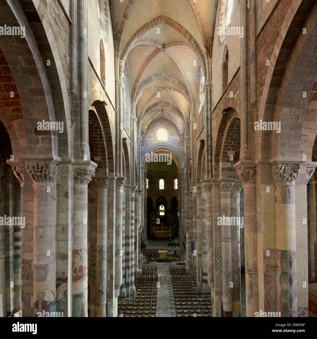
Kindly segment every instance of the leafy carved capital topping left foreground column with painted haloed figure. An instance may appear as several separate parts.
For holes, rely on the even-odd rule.
[[[33,182],[56,182],[56,164],[51,162],[27,162],[27,173]]]

